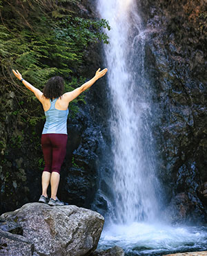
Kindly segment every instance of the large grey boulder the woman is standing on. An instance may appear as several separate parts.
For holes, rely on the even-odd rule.
[[[92,210],[41,203],[27,203],[14,212],[6,212],[0,221],[0,255],[10,253],[15,246],[19,253],[15,255],[90,255],[97,248],[104,223],[101,214]],[[12,222],[21,226],[22,236],[7,232]]]

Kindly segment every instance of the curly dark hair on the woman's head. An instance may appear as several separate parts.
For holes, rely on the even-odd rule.
[[[64,80],[61,76],[51,77],[43,88],[43,96],[47,99],[59,98],[63,95]]]

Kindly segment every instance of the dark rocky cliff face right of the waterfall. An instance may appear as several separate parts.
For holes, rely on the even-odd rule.
[[[205,1],[138,1],[146,62],[161,116],[159,176],[173,221],[206,216],[207,75]],[[161,136],[159,136],[161,134]]]

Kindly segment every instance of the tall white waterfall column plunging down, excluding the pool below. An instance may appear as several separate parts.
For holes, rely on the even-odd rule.
[[[144,70],[145,34],[135,0],[97,1],[109,21],[103,46],[110,91],[112,221],[147,221],[157,214],[150,83]],[[110,201],[110,200],[109,200]]]

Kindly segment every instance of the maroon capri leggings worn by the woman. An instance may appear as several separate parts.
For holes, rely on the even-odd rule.
[[[61,165],[66,156],[67,134],[42,134],[41,148],[45,167],[43,172],[60,173]]]

